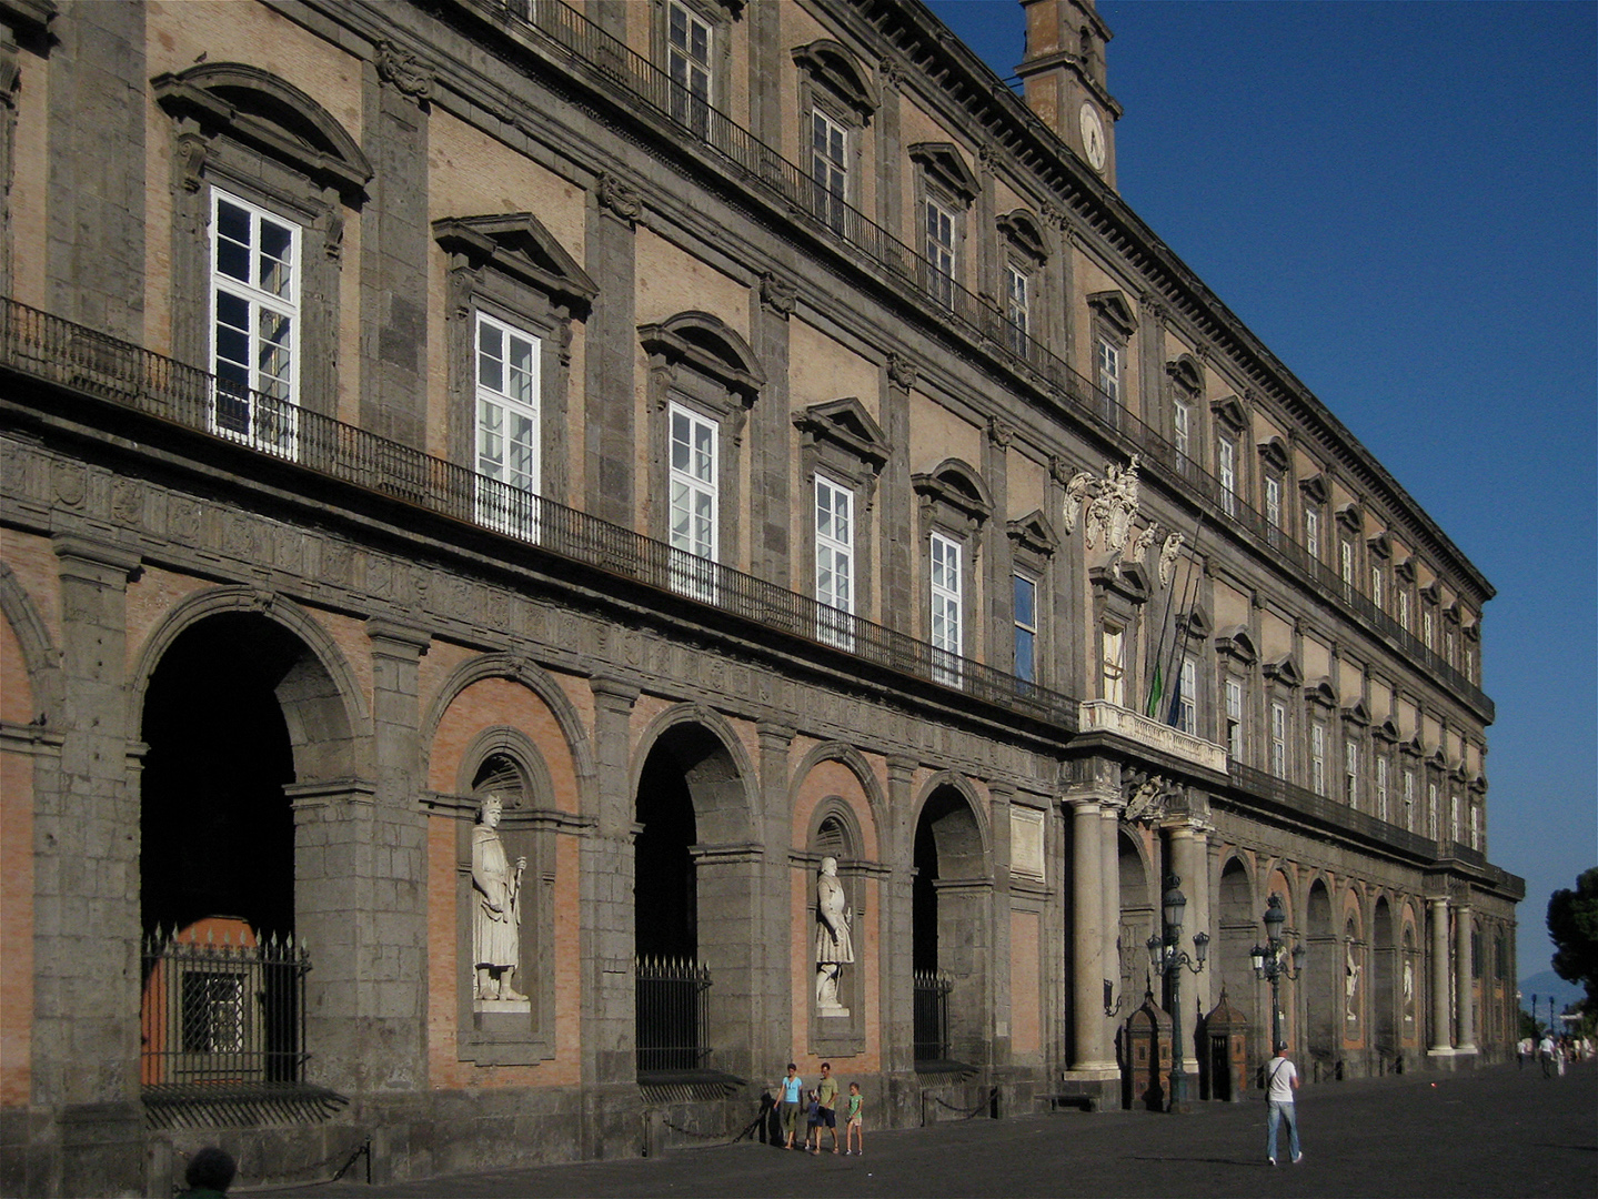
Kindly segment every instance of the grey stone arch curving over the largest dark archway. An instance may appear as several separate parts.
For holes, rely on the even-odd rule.
[[[278,685],[299,785],[369,778],[371,710],[337,642],[297,603],[256,588],[211,588],[174,603],[144,639],[129,672],[128,728],[139,728],[150,677],[174,642],[209,616],[249,613],[281,626],[307,656]]]

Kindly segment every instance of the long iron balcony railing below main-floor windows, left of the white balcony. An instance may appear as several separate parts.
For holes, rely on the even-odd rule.
[[[519,487],[260,393],[35,308],[0,307],[0,366],[61,383],[300,468],[393,497],[550,554],[711,605],[767,629],[1075,728],[1077,702],[810,596],[655,541]]]

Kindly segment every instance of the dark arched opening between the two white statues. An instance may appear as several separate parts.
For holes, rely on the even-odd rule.
[[[639,1076],[748,1076],[754,880],[727,742],[700,723],[666,728],[639,771],[636,811]]]

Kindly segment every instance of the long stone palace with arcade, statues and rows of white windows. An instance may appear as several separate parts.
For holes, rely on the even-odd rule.
[[[1016,21],[0,0],[0,1191],[1197,1100],[1267,902],[1312,1078],[1509,1052],[1493,588]]]

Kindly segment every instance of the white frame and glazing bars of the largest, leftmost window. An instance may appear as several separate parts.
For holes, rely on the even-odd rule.
[[[248,241],[240,243],[222,235],[222,206],[238,209],[249,220]],[[288,235],[281,257],[268,257],[264,230],[272,228]],[[222,249],[243,246],[246,279],[222,268]],[[252,445],[257,450],[284,458],[297,455],[299,433],[299,332],[300,332],[300,268],[304,236],[299,225],[275,212],[251,204],[248,200],[211,188],[211,315],[208,332],[208,356],[217,386],[211,402],[211,431]],[[272,265],[286,270],[281,287],[272,286]],[[243,327],[237,321],[224,327],[224,297],[227,307],[243,305]],[[286,321],[284,334],[273,340],[265,335],[265,323],[272,318]],[[235,354],[238,346],[224,342],[243,342],[243,361]],[[232,350],[232,353],[230,353]],[[224,354],[227,354],[224,358]],[[281,356],[281,362],[270,361]],[[238,394],[243,391],[244,394]]]

